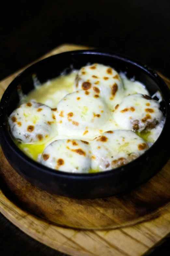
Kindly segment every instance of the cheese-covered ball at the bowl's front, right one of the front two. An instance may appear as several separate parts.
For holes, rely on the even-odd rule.
[[[91,143],[91,168],[106,171],[122,166],[139,157],[147,149],[146,142],[133,131],[107,131]]]

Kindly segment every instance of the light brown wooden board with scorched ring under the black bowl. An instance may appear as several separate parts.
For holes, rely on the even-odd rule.
[[[64,45],[47,56],[75,49],[79,46]],[[1,81],[1,96],[17,74]],[[169,79],[163,78],[170,85]],[[170,162],[148,182],[127,193],[79,200],[37,189],[10,167],[2,151],[0,158],[0,212],[52,248],[71,255],[142,255],[170,232]],[[103,230],[75,230],[54,222]]]

